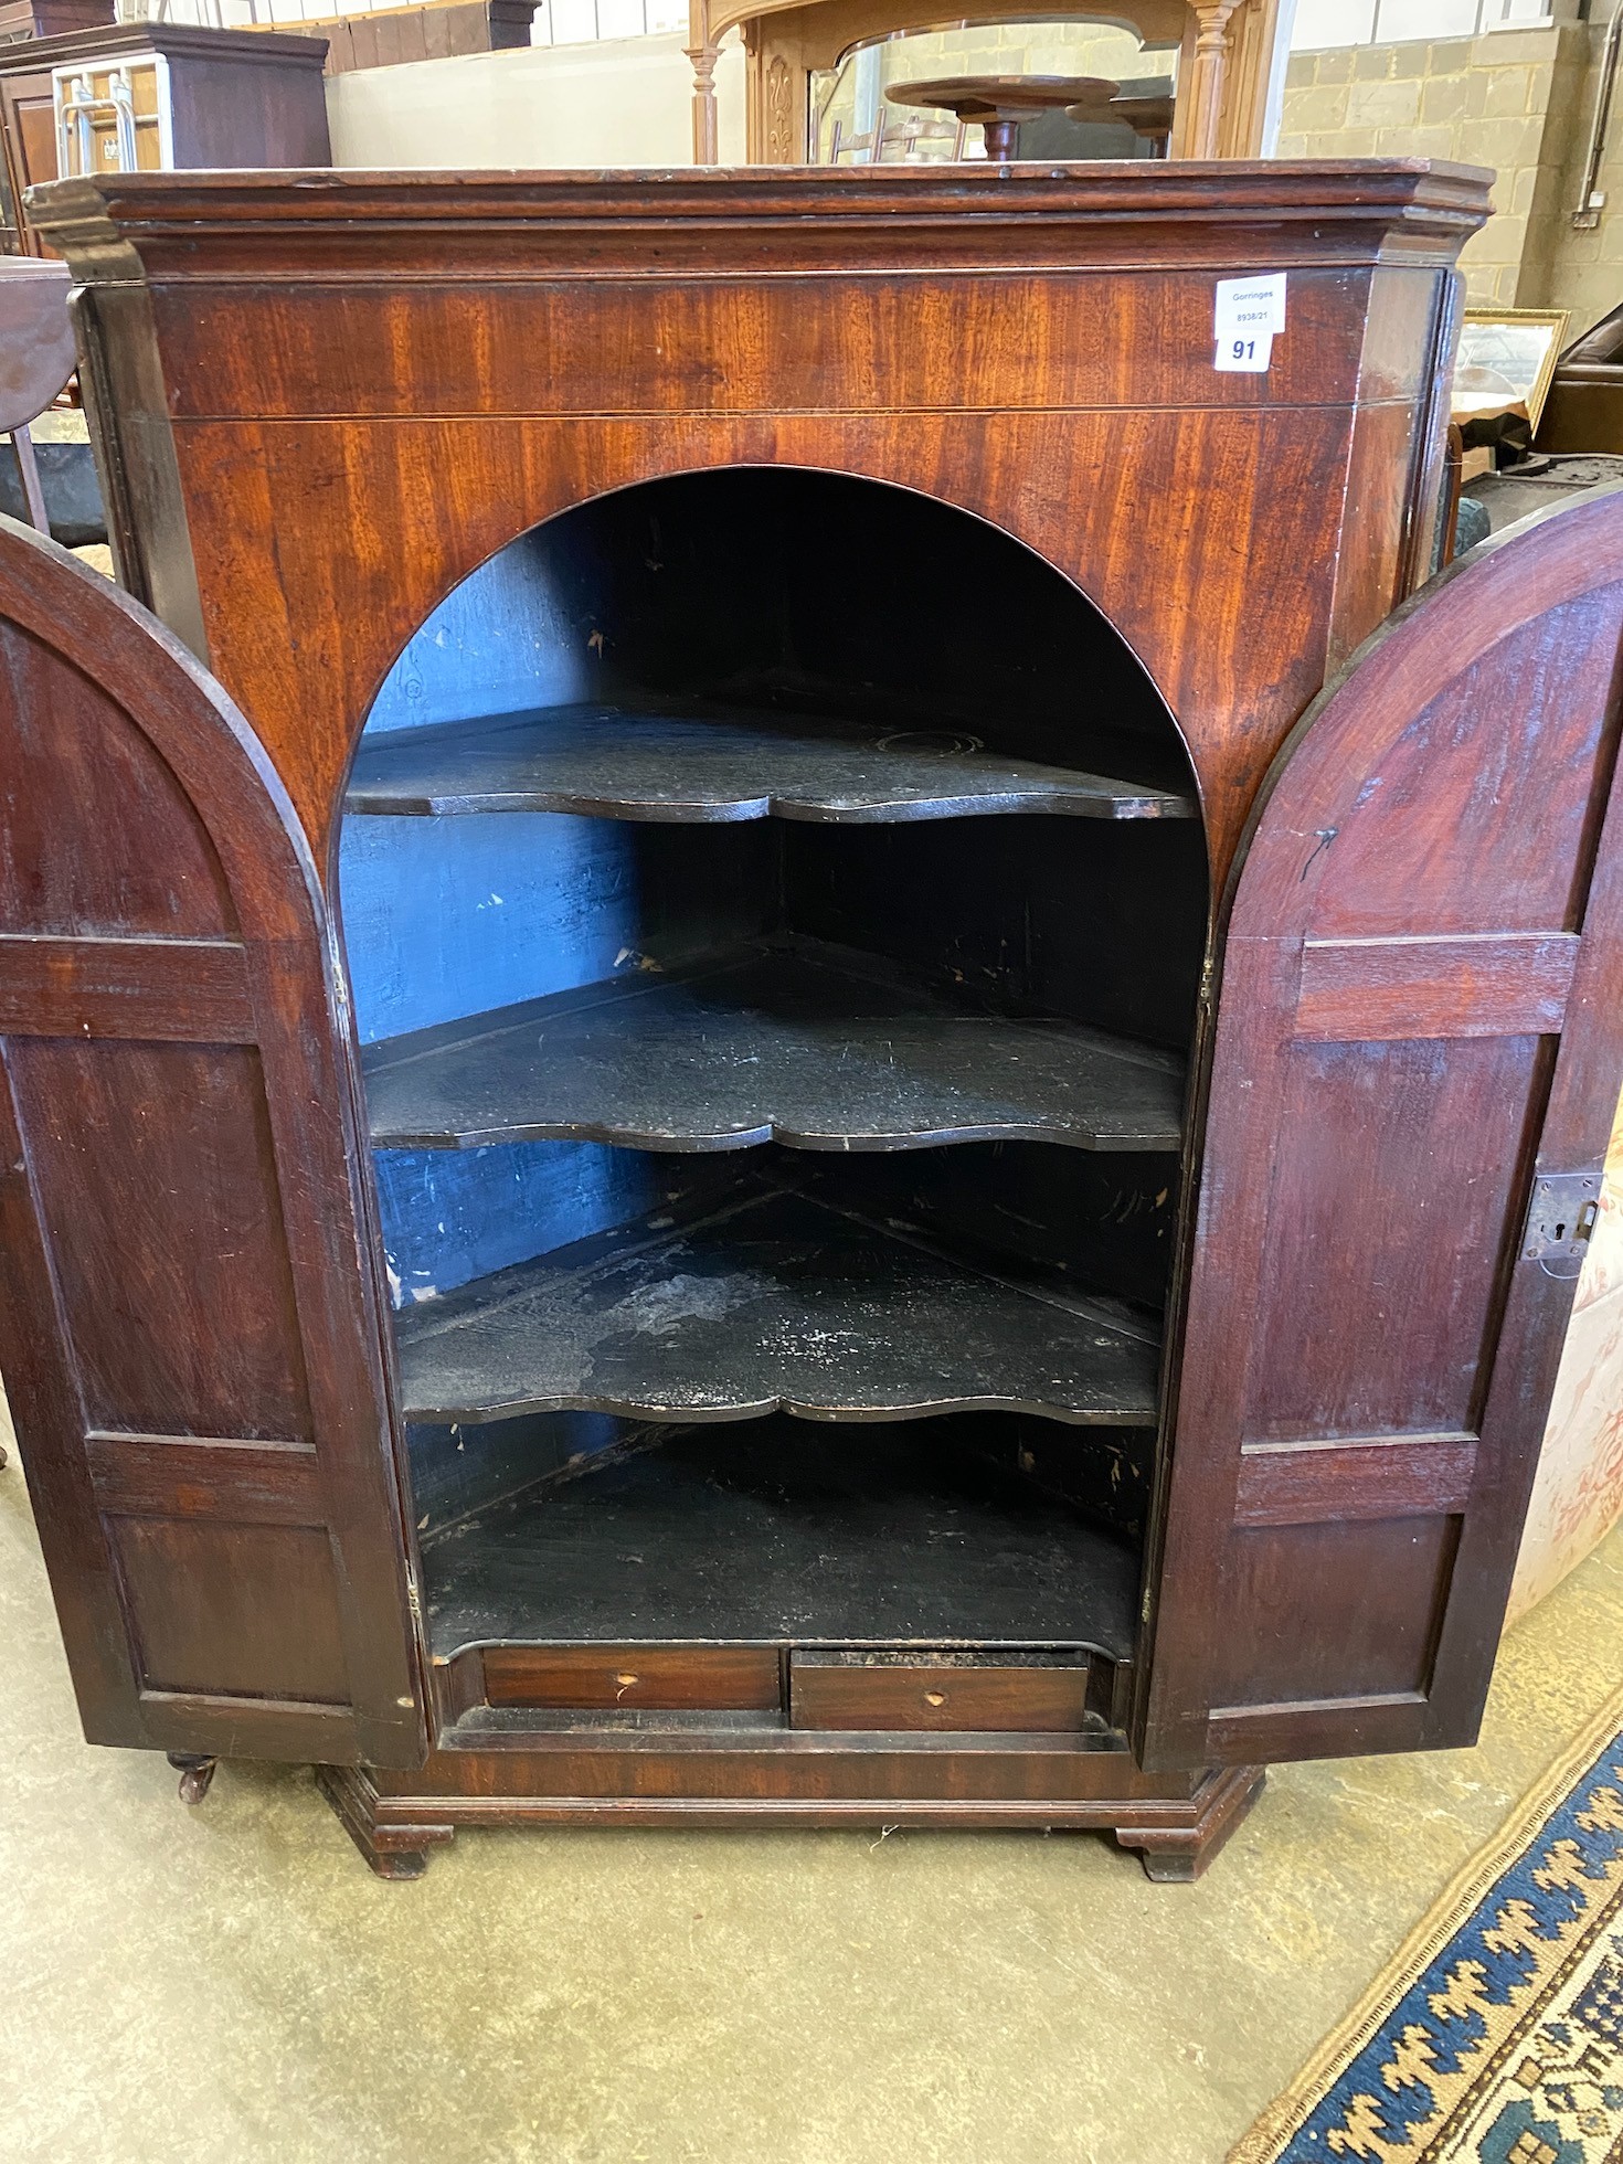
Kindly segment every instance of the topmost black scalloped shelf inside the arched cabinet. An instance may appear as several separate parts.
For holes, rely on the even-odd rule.
[[[1195,818],[1197,807],[1177,790],[1008,760],[954,729],[885,731],[729,708],[565,705],[400,729],[364,744],[344,809],[894,822],[1008,812]]]

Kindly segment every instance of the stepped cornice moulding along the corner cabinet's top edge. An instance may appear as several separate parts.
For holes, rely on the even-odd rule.
[[[30,190],[89,283],[762,268],[1452,262],[1493,175],[1422,158],[1143,167],[143,173]],[[770,247],[770,264],[766,249]]]

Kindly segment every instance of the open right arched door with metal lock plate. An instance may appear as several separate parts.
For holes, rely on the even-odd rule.
[[[1597,491],[1435,580],[1272,768],[1223,946],[1149,1766],[1476,1736],[1623,1082],[1621,636]]]

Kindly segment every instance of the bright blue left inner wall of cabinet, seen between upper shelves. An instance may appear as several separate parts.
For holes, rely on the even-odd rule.
[[[366,734],[602,695],[589,619],[547,539],[526,535],[409,641]],[[632,965],[636,837],[623,824],[351,818],[338,861],[361,1043]],[[374,1164],[396,1305],[602,1231],[647,1208],[651,1188],[645,1160],[571,1143],[379,1151]]]

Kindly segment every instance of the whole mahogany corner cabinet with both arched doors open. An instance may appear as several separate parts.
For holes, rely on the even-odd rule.
[[[1623,493],[1407,599],[1485,212],[35,195],[130,589],[0,535],[0,1368],[93,1742],[314,1761],[396,1878],[1188,1878],[1272,1759],[1474,1738],[1623,1076]]]

